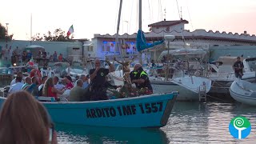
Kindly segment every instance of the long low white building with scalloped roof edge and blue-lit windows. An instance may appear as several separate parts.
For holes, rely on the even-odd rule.
[[[174,35],[175,42],[186,43],[202,43],[210,48],[217,48],[218,46],[255,46],[256,47],[256,36],[254,34],[247,34],[246,30],[243,34],[232,33],[232,32],[220,32],[220,31],[206,31],[198,29],[194,31],[185,30],[185,24],[189,22],[186,20],[178,21],[161,21],[148,25],[150,32],[145,33],[147,42],[156,42],[162,40],[164,35]],[[137,53],[136,50],[136,36],[137,34],[122,34],[118,35],[119,43],[123,49],[129,54]],[[115,45],[116,34],[94,34],[92,43],[94,45],[95,57],[104,58],[105,55],[120,54],[120,50]],[[171,46],[170,46],[171,47]],[[172,46],[171,48],[174,48]]]

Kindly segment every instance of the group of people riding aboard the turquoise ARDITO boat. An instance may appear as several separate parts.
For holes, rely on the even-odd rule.
[[[96,59],[95,68],[90,70],[90,74],[81,74],[74,83],[69,75],[64,78],[42,77],[39,70],[35,68],[26,78],[23,78],[22,72],[18,72],[16,78],[10,83],[9,94],[26,90],[34,96],[54,97],[57,101],[59,97],[67,98],[71,102],[106,100],[108,99],[106,94],[108,88],[121,87],[112,86],[107,81],[108,74],[114,71],[114,65],[108,60],[106,63],[108,63],[109,69],[102,68],[100,60]],[[126,71],[128,74],[125,73],[124,75],[127,87],[131,87],[134,83],[138,89],[146,87],[153,93],[148,75],[140,64],[136,64],[134,70],[129,71]]]

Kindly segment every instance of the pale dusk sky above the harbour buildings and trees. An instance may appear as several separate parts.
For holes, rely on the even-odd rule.
[[[16,40],[74,26],[74,38],[94,38],[94,34],[115,34],[120,0],[8,0],[1,2],[0,22],[9,23],[9,34]],[[178,2],[178,5],[177,5]],[[186,30],[219,30],[256,34],[256,0],[142,0],[142,30],[148,25],[182,18]],[[166,10],[166,13],[165,13]],[[166,16],[165,16],[166,15]],[[119,34],[138,30],[138,0],[123,0]]]

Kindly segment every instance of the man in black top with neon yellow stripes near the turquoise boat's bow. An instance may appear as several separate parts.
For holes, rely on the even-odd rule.
[[[137,63],[134,66],[134,71],[132,71],[132,83],[135,83],[138,89],[147,88],[150,92],[149,94],[153,94],[153,89],[150,84],[150,79],[146,74],[146,71],[142,69],[142,65]]]

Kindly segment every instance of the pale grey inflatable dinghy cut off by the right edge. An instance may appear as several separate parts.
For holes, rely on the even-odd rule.
[[[230,95],[238,102],[256,106],[256,84],[235,80],[230,86]]]

